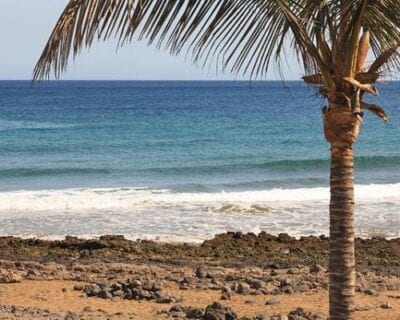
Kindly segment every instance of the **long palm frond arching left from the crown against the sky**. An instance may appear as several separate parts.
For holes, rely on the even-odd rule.
[[[327,69],[299,17],[308,2],[295,0],[70,0],[34,69],[34,79],[56,78],[94,40],[137,36],[171,54],[187,49],[193,61],[220,59],[230,71],[262,76],[283,46],[297,52],[306,72]],[[308,9],[307,9],[308,10]],[[309,18],[312,21],[312,18]],[[294,41],[290,41],[293,39]]]

